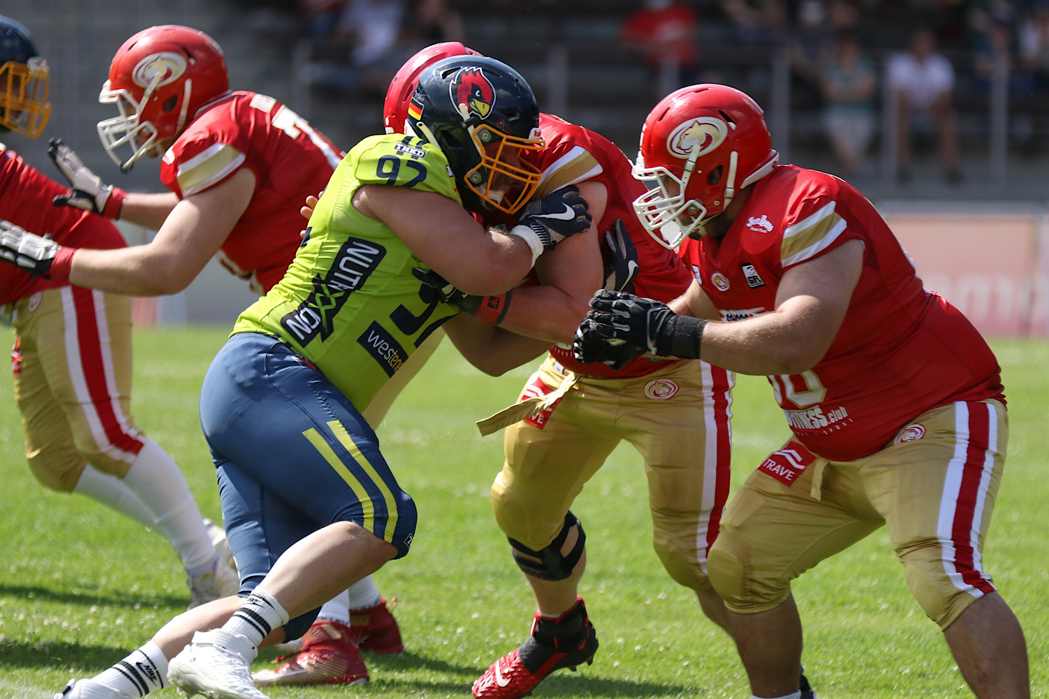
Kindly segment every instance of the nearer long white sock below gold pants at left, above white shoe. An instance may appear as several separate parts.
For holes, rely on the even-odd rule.
[[[178,551],[191,576],[212,569],[215,547],[208,539],[200,510],[183,473],[163,449],[147,439],[124,484],[152,512],[152,526]]]

